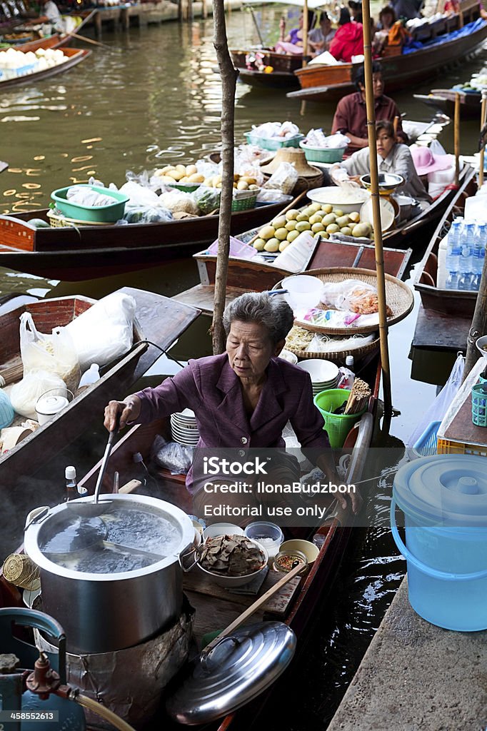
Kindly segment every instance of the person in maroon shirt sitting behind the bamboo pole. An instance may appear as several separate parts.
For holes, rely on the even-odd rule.
[[[397,118],[396,135],[405,140],[406,135],[401,127],[401,113],[389,96],[384,94],[384,80],[380,63],[374,61],[372,64],[372,83],[374,85],[374,106],[376,119],[388,119],[394,121]],[[340,99],[336,106],[333,117],[331,134],[341,132],[347,135],[350,144],[347,147],[347,154],[352,154],[361,148],[369,145],[367,137],[367,111],[365,94],[365,70],[360,66],[355,74],[355,94],[348,94]]]

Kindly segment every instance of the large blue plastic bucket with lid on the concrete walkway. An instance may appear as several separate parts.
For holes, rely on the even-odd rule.
[[[396,526],[397,506],[404,512],[405,545]],[[390,526],[407,559],[415,612],[445,629],[487,629],[485,458],[434,455],[399,469]]]

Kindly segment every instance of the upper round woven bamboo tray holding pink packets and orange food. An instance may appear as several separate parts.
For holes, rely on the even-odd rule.
[[[371,284],[372,287],[377,287],[377,273],[371,269],[360,269],[354,267],[333,267],[328,269],[310,269],[303,274],[309,274],[309,276],[317,276],[324,282],[333,281],[339,282],[344,279],[360,279],[360,281],[366,284]],[[388,317],[388,326],[395,325],[396,322],[401,322],[404,317],[407,317],[409,312],[412,311],[414,306],[414,298],[412,290],[409,289],[407,284],[396,279],[396,277],[390,274],[385,274],[385,299],[392,311],[392,316]],[[278,282],[273,289],[281,289],[282,283]],[[318,327],[312,325],[310,322],[303,320],[296,320],[296,325],[304,327],[305,330],[310,330],[312,333],[326,333],[327,335],[344,335],[344,333],[363,334],[373,333],[377,330],[379,320],[375,324],[363,325],[363,327]]]

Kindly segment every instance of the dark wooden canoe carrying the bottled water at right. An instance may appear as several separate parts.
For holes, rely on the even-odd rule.
[[[465,200],[475,194],[475,171],[468,167],[460,188],[450,201],[442,216],[429,246],[416,270],[415,289],[420,292],[421,302],[426,310],[436,310],[455,317],[472,319],[477,292],[463,292],[458,289],[439,289],[437,287],[438,247],[456,216],[461,215]]]

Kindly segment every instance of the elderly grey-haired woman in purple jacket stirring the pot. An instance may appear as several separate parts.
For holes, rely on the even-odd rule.
[[[285,452],[282,439],[290,422],[303,452],[311,450],[309,458],[329,481],[336,482],[328,435],[313,404],[309,374],[278,357],[292,324],[292,309],[279,296],[266,292],[241,295],[224,311],[226,352],[189,360],[186,368],[156,388],[146,388],[124,401],[110,401],[105,408],[105,427],[113,431],[118,414],[123,428],[127,423],[146,423],[189,408],[195,412],[200,432],[197,447],[234,451],[238,447],[240,457],[251,447],[275,447],[265,481],[289,484],[299,480],[298,462]],[[193,495],[197,515],[205,515],[204,507],[213,497],[204,491],[202,477],[192,473],[193,468],[186,487]],[[358,512],[360,496],[351,493],[350,498],[352,510]],[[216,500],[221,502],[218,496]],[[226,504],[232,500],[241,504],[242,496],[225,495]],[[245,500],[258,504],[254,493]],[[346,507],[343,495],[340,501]]]

